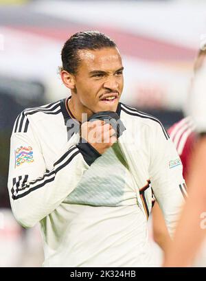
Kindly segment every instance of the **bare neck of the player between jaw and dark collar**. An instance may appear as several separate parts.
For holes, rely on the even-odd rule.
[[[79,122],[82,122],[82,114],[87,114],[87,118],[93,115],[93,111],[84,106],[76,97],[71,95],[71,99],[68,101],[69,110],[73,117]]]

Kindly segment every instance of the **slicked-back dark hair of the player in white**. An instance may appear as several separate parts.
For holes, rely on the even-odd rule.
[[[73,34],[62,48],[62,69],[76,74],[80,65],[78,56],[80,49],[102,49],[104,47],[116,47],[116,44],[103,33],[84,31]]]

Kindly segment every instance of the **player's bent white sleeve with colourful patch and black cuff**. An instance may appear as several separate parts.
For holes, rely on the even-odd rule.
[[[54,211],[99,156],[90,144],[76,144],[65,148],[48,171],[31,126],[26,133],[13,130],[8,190],[16,220],[32,227]]]

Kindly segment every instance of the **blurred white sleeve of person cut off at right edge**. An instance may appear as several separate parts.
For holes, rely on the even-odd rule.
[[[198,133],[206,133],[206,65],[194,77],[190,93],[189,114]]]

